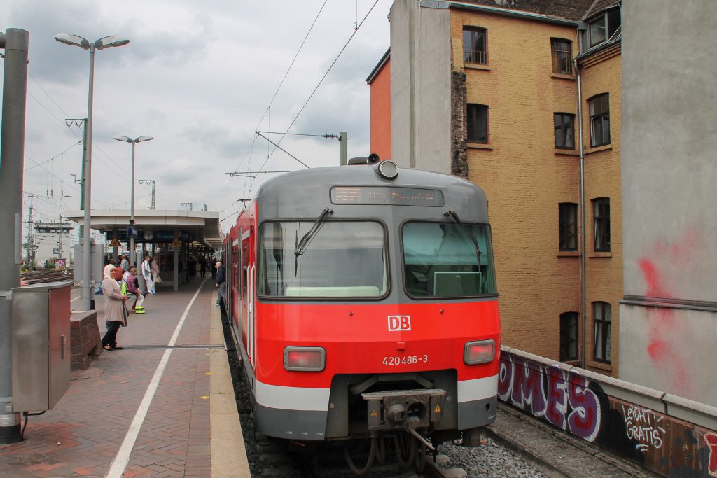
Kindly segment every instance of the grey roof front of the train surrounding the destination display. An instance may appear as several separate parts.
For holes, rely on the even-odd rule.
[[[483,189],[470,181],[442,173],[399,168],[397,178],[385,179],[376,173],[377,165],[331,166],[285,173],[265,182],[257,192],[259,220],[316,219],[324,208],[331,208],[331,219],[384,218],[399,210],[405,219],[450,220],[442,213],[452,209],[462,221],[488,222],[488,206]],[[438,189],[444,196],[442,207],[408,205],[332,204],[333,186],[394,186]]]

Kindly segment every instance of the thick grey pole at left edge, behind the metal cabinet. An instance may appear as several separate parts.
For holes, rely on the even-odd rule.
[[[22,262],[22,170],[29,34],[0,32],[5,49],[0,131],[0,444],[22,441],[20,414],[12,407],[12,288],[20,283]]]

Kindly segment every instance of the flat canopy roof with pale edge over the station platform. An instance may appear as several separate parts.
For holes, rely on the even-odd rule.
[[[84,225],[82,211],[69,211],[65,217]],[[92,209],[92,229],[107,234],[108,239],[127,241],[130,230],[128,209]],[[135,211],[134,234],[136,242],[167,244],[179,239],[182,243],[220,249],[222,229],[218,211],[186,211],[170,209],[143,209]]]

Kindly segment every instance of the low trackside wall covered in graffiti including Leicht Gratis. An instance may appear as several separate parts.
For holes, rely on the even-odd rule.
[[[579,369],[503,351],[498,397],[664,477],[717,478],[717,431],[608,396]]]

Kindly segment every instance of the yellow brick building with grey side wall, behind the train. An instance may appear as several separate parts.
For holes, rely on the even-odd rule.
[[[485,190],[503,344],[617,376],[619,2],[395,0],[389,18],[394,161]]]

